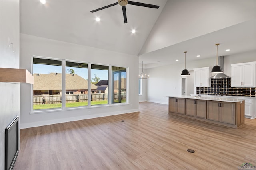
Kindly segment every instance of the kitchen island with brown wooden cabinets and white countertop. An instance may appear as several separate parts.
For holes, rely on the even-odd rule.
[[[169,114],[224,125],[244,125],[244,100],[240,98],[166,96],[169,98]]]

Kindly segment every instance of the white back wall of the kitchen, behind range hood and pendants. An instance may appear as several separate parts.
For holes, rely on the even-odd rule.
[[[225,56],[224,73],[231,76],[230,64],[251,61],[256,61],[256,51],[248,51],[242,54]],[[187,69],[192,73],[189,77],[190,80],[188,81],[188,93],[191,93],[194,88],[194,84],[192,82],[194,76],[192,71],[193,68],[209,66],[211,71],[214,63],[216,63],[216,57],[192,61],[187,64]],[[168,98],[164,96],[181,95],[182,81],[180,74],[182,69],[183,64],[172,64],[147,69],[147,74],[150,75],[150,79],[148,79],[147,82],[146,100],[149,102],[168,104]],[[191,94],[194,94],[194,92]]]

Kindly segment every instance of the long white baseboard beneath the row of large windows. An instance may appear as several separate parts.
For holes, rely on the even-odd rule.
[[[125,113],[133,113],[138,112],[139,109],[132,109],[132,110],[122,110],[122,111],[116,111],[116,112],[110,112],[110,113],[100,113],[95,115],[84,115],[84,116],[78,116],[78,117],[67,117],[64,119],[54,119],[49,121],[37,121],[33,123],[23,123],[20,124],[20,129],[30,128],[30,127],[38,127],[38,126],[44,126],[44,125],[52,125],[57,123],[64,123],[64,122],[70,122],[70,121],[78,121],[78,120],[84,120],[84,119],[92,119],[97,117],[105,117],[105,116],[112,116],[112,115],[120,115]]]

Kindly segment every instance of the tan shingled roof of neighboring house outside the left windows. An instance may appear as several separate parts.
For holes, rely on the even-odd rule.
[[[33,74],[33,90],[61,90],[61,73],[50,74]],[[88,80],[77,74],[66,74],[66,90],[83,90],[88,89]],[[91,89],[95,90],[97,86],[91,83]]]

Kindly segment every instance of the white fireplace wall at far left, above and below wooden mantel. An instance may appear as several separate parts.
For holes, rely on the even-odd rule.
[[[19,68],[19,32],[19,0],[0,0],[0,67]],[[20,84],[0,82],[0,94],[0,170],[4,170],[5,128],[20,114]]]

